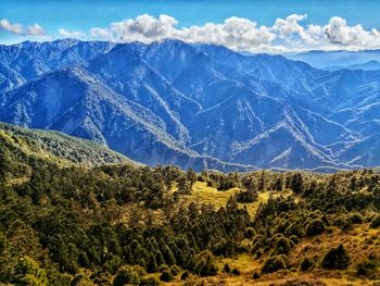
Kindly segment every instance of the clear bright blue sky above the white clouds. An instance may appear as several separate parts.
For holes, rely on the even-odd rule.
[[[327,25],[333,16],[342,17],[347,26],[360,24],[364,29],[380,28],[380,1],[377,0],[1,0],[0,20],[21,24],[25,28],[37,23],[50,37],[59,37],[59,29],[87,33],[93,27],[109,27],[113,22],[136,18],[141,14],[157,17],[166,14],[178,23],[177,29],[205,23],[224,23],[231,16],[248,18],[257,26],[273,26],[277,18],[292,14],[304,15],[302,26]],[[7,23],[8,23],[7,22]],[[27,33],[24,33],[27,34]],[[12,43],[31,36],[0,30],[0,42]],[[276,40],[274,40],[276,41]]]

